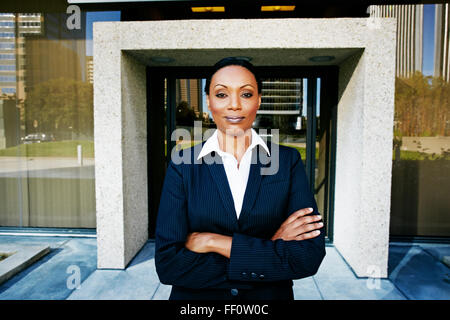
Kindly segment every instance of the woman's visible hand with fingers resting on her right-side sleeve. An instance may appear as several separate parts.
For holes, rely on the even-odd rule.
[[[318,214],[306,216],[311,212],[313,212],[312,208],[295,211],[278,228],[271,240],[306,240],[317,237],[320,234],[317,229],[323,227],[323,223],[317,221],[320,221],[322,217]]]

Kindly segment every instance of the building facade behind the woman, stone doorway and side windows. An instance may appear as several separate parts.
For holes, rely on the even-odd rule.
[[[192,1],[144,1],[139,5],[126,1],[120,4],[55,1],[56,7],[41,8],[14,6],[8,1],[0,5],[0,232],[90,230],[97,233],[99,266],[125,267],[142,241],[151,238],[154,232],[163,173],[171,147],[179,143],[170,139],[173,130],[183,127],[193,133],[194,121],[200,121],[204,129],[214,128],[205,104],[204,75],[220,57],[238,55],[251,58],[264,76],[263,100],[254,127],[278,128],[280,143],[300,152],[326,222],[328,240],[358,275],[367,275],[368,265],[376,264],[377,259],[382,261],[380,274],[385,274],[390,237],[448,239],[450,206],[444,192],[450,187],[448,4],[368,8],[352,3],[307,8],[300,2],[292,2],[295,5],[288,11],[281,7],[267,11],[261,5],[233,1],[218,11],[207,10],[206,6],[203,11],[194,10],[202,6]],[[290,18],[298,21],[291,23]],[[306,24],[303,18],[317,18],[317,23],[320,22],[317,28],[325,28],[324,34],[329,35],[320,36],[318,39],[324,40],[316,47],[302,42],[302,37],[315,34],[313,29],[309,35],[303,32],[316,23]],[[351,18],[355,24],[346,24],[344,20]],[[249,37],[233,42],[227,26],[234,30],[248,19],[260,26],[259,31],[251,29],[261,33],[259,41]],[[231,38],[215,47],[209,47],[215,41],[211,38],[199,44],[196,37],[208,34],[208,25],[202,25],[200,20],[209,21],[209,26],[221,30],[221,36]],[[108,21],[117,24],[105,24],[102,29],[99,23],[94,31],[94,22]],[[123,29],[132,41],[117,44],[127,52],[128,62],[117,65],[106,58],[96,60],[95,55],[104,49],[102,41],[124,28],[120,21],[140,31]],[[393,78],[386,76],[384,84],[375,84],[377,71],[382,68],[371,69],[370,61],[382,59],[375,57],[382,50],[389,51],[389,36],[379,42],[378,51],[371,51],[374,50],[371,42],[357,43],[344,34],[351,30],[355,34],[367,32],[375,38],[383,32],[390,35],[385,21],[395,21],[395,74]],[[154,34],[144,32],[145,28]],[[202,32],[188,32],[195,28]],[[425,32],[430,29],[431,34]],[[342,30],[342,34],[336,30]],[[139,33],[142,35],[137,36]],[[330,35],[335,35],[335,39]],[[315,41],[311,39],[311,43]],[[113,44],[114,41],[110,43]],[[389,54],[386,60],[380,60],[380,65],[387,69],[388,57]],[[146,69],[142,71],[139,67],[141,71],[127,73],[137,68],[135,61]],[[362,70],[363,65],[367,70]],[[117,72],[111,72],[106,81],[110,68],[116,68]],[[120,68],[125,69],[118,71]],[[373,74],[365,73],[370,70]],[[108,110],[99,107],[102,102],[98,99],[109,101],[120,96],[127,85],[123,80],[124,84],[118,86],[121,72],[130,79],[145,80],[146,85],[139,85],[142,92],[136,92],[133,99],[144,94],[142,99],[147,108],[158,105],[157,109],[149,109],[154,112],[152,117],[142,116],[147,123],[147,140],[143,144],[149,148],[145,151],[146,163],[152,168],[150,165],[145,168],[146,182],[137,184],[147,190],[147,195],[141,199],[146,206],[142,205],[143,211],[139,213],[142,214],[139,221],[146,223],[139,227],[142,232],[136,241],[124,237],[126,232],[135,231],[130,226],[138,219],[133,214],[127,215],[131,208],[115,210],[123,215],[114,219],[125,221],[125,225],[104,224],[104,217],[112,210],[105,203],[111,202],[110,197],[117,190],[105,193],[102,186],[115,186],[118,182],[129,186],[127,179],[134,172],[133,166],[127,167],[129,164],[106,158],[120,146],[108,145],[120,137],[116,134],[123,132],[124,137],[132,134],[125,130],[120,119],[109,123],[107,131],[98,131],[103,120],[112,119],[107,115],[116,114],[111,111],[112,105]],[[160,74],[164,81],[160,82],[155,74]],[[395,88],[393,100],[388,95],[384,100],[380,97],[371,100],[367,91],[371,81],[375,81],[374,92],[389,94],[390,86]],[[108,91],[108,96],[98,94],[111,90],[108,86],[115,91]],[[367,96],[358,96],[354,90],[366,92]],[[381,99],[377,100],[379,108],[371,109],[376,99]],[[361,114],[355,103],[365,103],[366,113]],[[369,115],[371,120],[364,118]],[[364,121],[367,126],[360,126]],[[103,136],[105,133],[107,137]],[[370,141],[376,137],[382,138]],[[388,170],[373,185],[365,170],[372,168],[376,172],[376,157],[368,146],[378,148],[378,144],[384,146],[378,164],[384,164]],[[105,146],[108,152],[102,153]],[[123,168],[123,172],[129,169],[130,175],[109,175],[108,165],[115,165],[112,169]],[[105,175],[112,180],[103,180]],[[348,190],[354,191],[353,200],[348,198]],[[127,192],[116,195],[123,201]],[[363,205],[362,199],[369,200]],[[382,204],[377,214],[369,214],[370,203]],[[344,222],[357,219],[366,224],[349,232]],[[373,224],[379,225],[382,232],[372,234]],[[113,227],[113,233],[106,232]],[[382,245],[362,240],[365,233]],[[113,239],[122,239],[123,243],[108,242]],[[357,249],[355,243],[359,244]],[[360,263],[367,250],[373,250],[373,255]],[[112,262],[110,252],[121,257],[121,262]]]

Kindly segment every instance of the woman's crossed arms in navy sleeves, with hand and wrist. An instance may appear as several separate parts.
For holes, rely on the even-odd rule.
[[[323,226],[312,194],[305,193],[307,179],[298,152],[292,163],[287,210],[293,213],[271,239],[190,232],[181,171],[171,163],[156,228],[160,281],[187,288],[220,288],[230,280],[266,282],[314,275],[325,256],[324,232],[318,230]]]

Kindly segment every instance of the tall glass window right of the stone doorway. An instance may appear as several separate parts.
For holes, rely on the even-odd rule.
[[[376,6],[397,18],[391,235],[450,235],[450,6]]]

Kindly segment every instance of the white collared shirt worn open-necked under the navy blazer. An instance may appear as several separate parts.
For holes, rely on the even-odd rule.
[[[199,160],[205,155],[215,151],[222,158],[222,163],[227,175],[228,184],[233,196],[234,208],[236,210],[238,219],[242,210],[245,190],[247,188],[253,148],[255,148],[259,144],[266,150],[267,154],[270,156],[269,149],[267,148],[264,140],[256,133],[253,128],[251,129],[251,131],[252,141],[241,158],[239,168],[237,159],[231,153],[222,151],[220,149],[217,129],[214,131],[213,135],[208,138],[208,140],[206,140],[205,144],[202,147],[202,150],[200,151],[200,154],[197,157],[197,160]]]

